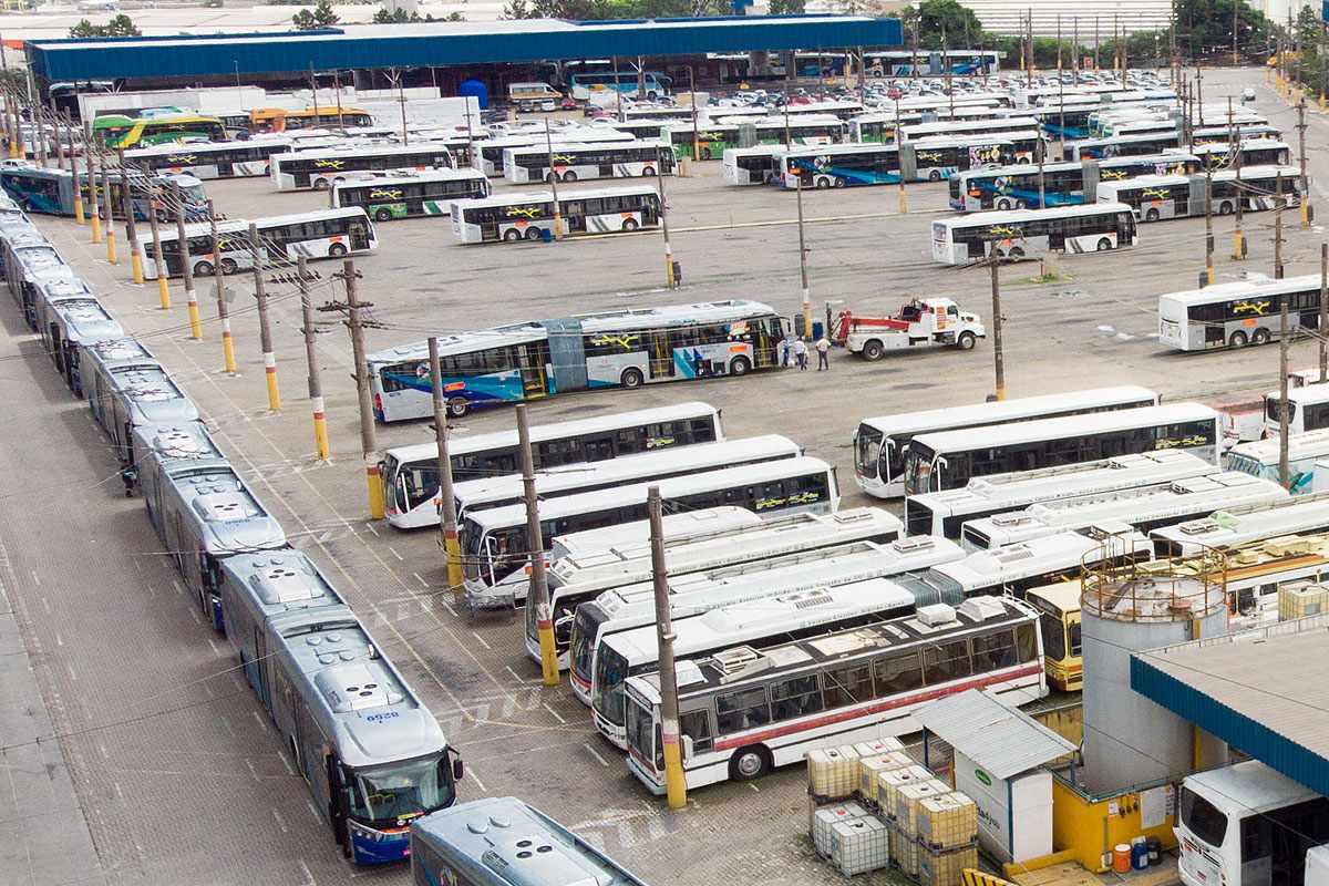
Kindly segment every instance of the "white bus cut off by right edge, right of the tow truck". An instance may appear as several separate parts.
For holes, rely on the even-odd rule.
[[[1278,337],[1282,303],[1288,331],[1320,321],[1320,275],[1261,283],[1219,283],[1159,296],[1159,343],[1177,351],[1211,351],[1268,344]]]

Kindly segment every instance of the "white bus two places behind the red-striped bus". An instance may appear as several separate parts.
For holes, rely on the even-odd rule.
[[[855,542],[805,550],[671,578],[670,614],[671,618],[690,618],[750,600],[825,590],[872,578],[890,578],[961,557],[964,551],[960,546],[945,538],[897,539],[886,545]],[[591,703],[595,654],[603,648],[607,638],[654,623],[655,599],[650,582],[603,591],[595,599],[579,604],[567,656],[577,699],[587,705]],[[528,626],[526,651],[538,659],[540,646],[534,643],[532,650],[529,634]]]

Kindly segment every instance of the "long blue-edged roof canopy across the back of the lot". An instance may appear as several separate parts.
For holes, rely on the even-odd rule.
[[[897,19],[726,16],[563,21],[557,19],[359,25],[290,33],[36,40],[39,77],[171,78],[290,70],[425,68],[496,62],[682,56],[752,49],[893,46]]]

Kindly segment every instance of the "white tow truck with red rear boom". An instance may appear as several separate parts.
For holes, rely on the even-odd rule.
[[[908,348],[969,351],[977,339],[987,336],[977,313],[961,311],[944,298],[913,299],[890,317],[860,317],[841,311],[832,329],[839,344],[864,360],[880,360],[886,351]]]

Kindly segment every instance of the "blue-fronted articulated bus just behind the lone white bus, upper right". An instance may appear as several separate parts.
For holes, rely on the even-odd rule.
[[[1039,209],[1039,183],[1042,202],[1047,206],[1078,206],[1086,194],[1096,193],[1099,182],[1120,182],[1138,175],[1183,175],[1199,169],[1197,157],[1181,153],[1043,163],[1042,182],[1038,167],[1027,163],[971,169],[950,177],[950,209],[961,213]]]

